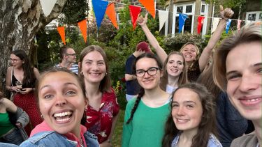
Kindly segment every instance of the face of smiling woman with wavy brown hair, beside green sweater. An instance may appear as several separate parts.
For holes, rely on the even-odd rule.
[[[198,94],[189,88],[178,89],[173,96],[171,113],[178,130],[197,130],[203,114]]]

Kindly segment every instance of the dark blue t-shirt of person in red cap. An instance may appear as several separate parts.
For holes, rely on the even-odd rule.
[[[126,60],[126,74],[133,75],[133,63],[136,60],[136,56],[131,54],[129,58]],[[138,80],[130,80],[126,81],[126,94],[128,95],[137,95],[140,90],[140,85],[138,84]]]

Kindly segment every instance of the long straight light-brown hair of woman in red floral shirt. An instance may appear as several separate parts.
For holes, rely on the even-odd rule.
[[[103,56],[103,61],[105,61],[105,77],[103,77],[102,81],[100,82],[99,85],[99,91],[103,92],[112,92],[111,90],[111,79],[110,79],[110,74],[109,74],[109,66],[108,66],[108,58],[106,57],[105,52],[103,51],[103,49],[101,47],[99,47],[98,45],[89,45],[88,47],[85,47],[85,49],[82,50],[81,54],[80,54],[80,65],[79,65],[79,71],[80,71],[80,79],[82,79],[82,81],[84,81],[84,75],[82,75],[82,62],[83,59],[85,58],[85,56],[87,54],[89,54],[90,52],[99,52],[101,54],[101,56]]]

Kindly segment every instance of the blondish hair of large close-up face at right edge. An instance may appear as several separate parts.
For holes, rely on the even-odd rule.
[[[228,56],[228,53],[241,44],[257,41],[261,43],[261,26],[261,22],[253,22],[242,27],[242,29],[236,31],[233,36],[223,40],[219,49],[215,51],[213,68],[214,83],[217,84],[222,91],[226,91],[226,57]],[[250,49],[252,49],[252,47]]]

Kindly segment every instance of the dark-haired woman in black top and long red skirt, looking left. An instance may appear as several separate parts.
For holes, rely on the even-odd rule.
[[[10,54],[11,65],[6,73],[6,89],[14,93],[13,102],[29,115],[30,122],[24,127],[29,135],[31,130],[43,121],[34,96],[34,87],[39,77],[36,68],[32,68],[27,54],[23,50],[15,50]]]

